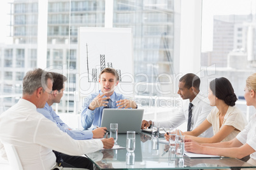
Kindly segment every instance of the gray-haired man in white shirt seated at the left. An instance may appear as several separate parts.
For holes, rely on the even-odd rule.
[[[52,84],[53,78],[49,72],[42,69],[27,72],[23,79],[22,98],[0,115],[1,142],[10,143],[16,148],[23,169],[57,167],[52,150],[68,155],[83,155],[113,147],[113,138],[97,141],[73,140],[52,121],[36,112],[36,108],[45,107],[46,101],[51,97]],[[73,158],[77,157],[69,157]],[[64,161],[62,162],[65,163]],[[68,164],[66,167],[76,167],[76,164]],[[88,166],[83,168],[92,168],[90,162]]]

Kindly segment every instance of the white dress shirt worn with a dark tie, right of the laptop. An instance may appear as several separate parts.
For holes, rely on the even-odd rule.
[[[171,119],[167,121],[153,121],[153,124],[155,126],[164,126],[169,128],[177,128],[183,122],[188,121],[188,105],[189,100],[182,100],[182,106],[177,114],[175,114]],[[191,119],[191,131],[199,126],[207,117],[208,114],[210,114],[211,107],[209,105],[209,100],[207,97],[204,97],[201,92],[198,93],[198,95],[192,100],[192,119]],[[210,138],[213,136],[213,128],[209,128],[204,133],[199,135],[200,137]]]

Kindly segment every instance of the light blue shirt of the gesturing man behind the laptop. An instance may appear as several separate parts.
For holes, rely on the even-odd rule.
[[[103,94],[101,91],[99,93],[94,93],[90,95],[88,98],[85,98],[85,102],[83,103],[83,111],[81,114],[82,117],[82,126],[85,129],[94,129],[97,128],[97,126],[101,126],[101,118],[103,115],[103,108],[104,107],[97,107],[95,110],[90,110],[88,107],[90,105],[90,102],[96,98],[97,95]],[[103,96],[103,98],[106,98],[106,96]],[[109,108],[118,108],[116,101],[125,99],[125,97],[118,93],[113,93],[113,95],[110,96],[109,101]]]

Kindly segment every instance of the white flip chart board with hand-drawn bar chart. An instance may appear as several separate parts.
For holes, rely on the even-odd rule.
[[[117,70],[119,83],[115,86],[116,93],[125,97],[134,95],[132,42],[131,28],[78,28],[77,88],[81,100],[99,92],[99,74],[105,68]]]

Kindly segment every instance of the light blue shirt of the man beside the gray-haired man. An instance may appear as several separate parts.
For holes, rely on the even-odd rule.
[[[47,102],[44,108],[38,108],[37,111],[53,121],[61,131],[68,133],[74,140],[88,140],[93,136],[92,131],[69,130],[71,128],[60,119],[59,115],[54,112]]]

